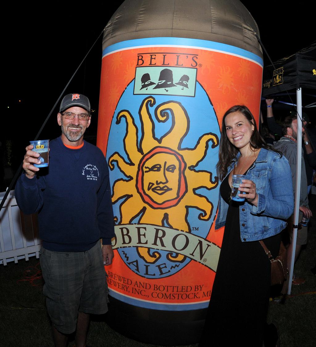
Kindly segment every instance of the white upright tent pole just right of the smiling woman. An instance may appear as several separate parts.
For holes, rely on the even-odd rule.
[[[293,238],[291,247],[291,260],[289,264],[289,277],[287,279],[287,295],[291,294],[293,268],[294,268],[294,257],[296,248],[296,237],[297,237],[297,225],[299,218],[299,207],[300,207],[300,193],[301,193],[301,168],[302,168],[302,90],[298,88],[296,91],[297,98],[297,153],[296,153],[296,187],[295,187],[295,205],[294,205],[294,227],[293,227]],[[303,172],[305,175],[305,172]]]

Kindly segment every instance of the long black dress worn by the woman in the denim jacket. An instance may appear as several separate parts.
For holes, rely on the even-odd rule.
[[[220,194],[229,204],[222,248],[199,347],[262,347],[269,303],[270,261],[259,241],[241,242],[239,206],[230,199],[228,176]],[[273,256],[281,234],[264,239]]]

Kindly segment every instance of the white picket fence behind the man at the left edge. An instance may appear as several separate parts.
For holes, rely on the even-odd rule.
[[[5,193],[0,193],[0,201]],[[39,257],[37,214],[25,215],[17,206],[14,191],[8,195],[0,211],[0,264]]]

